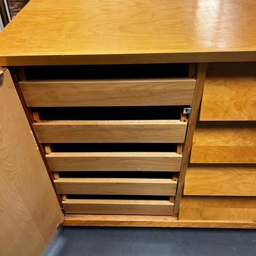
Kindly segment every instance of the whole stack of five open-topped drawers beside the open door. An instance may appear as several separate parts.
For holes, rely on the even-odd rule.
[[[65,212],[172,215],[189,76],[188,64],[24,68],[20,90]]]

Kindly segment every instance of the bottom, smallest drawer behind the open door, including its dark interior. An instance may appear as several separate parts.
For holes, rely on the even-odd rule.
[[[68,214],[167,215],[174,203],[168,196],[81,196],[68,195],[63,200]]]

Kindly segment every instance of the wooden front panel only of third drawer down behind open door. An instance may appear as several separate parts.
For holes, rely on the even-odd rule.
[[[46,158],[52,172],[179,172],[182,155],[175,152],[52,152]]]

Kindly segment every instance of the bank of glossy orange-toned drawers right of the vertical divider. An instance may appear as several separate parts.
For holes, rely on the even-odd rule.
[[[180,220],[256,220],[256,63],[212,63]]]

